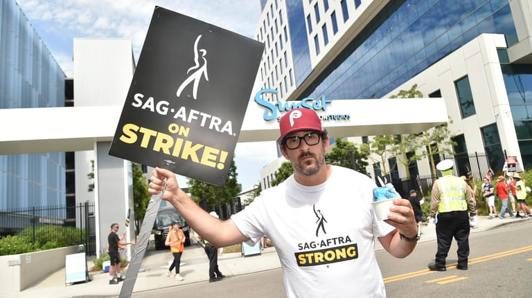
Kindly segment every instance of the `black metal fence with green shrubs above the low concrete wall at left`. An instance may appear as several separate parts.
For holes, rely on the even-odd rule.
[[[0,236],[25,233],[28,241],[65,239],[69,245],[85,245],[88,255],[96,254],[94,203],[73,206],[45,206],[0,210]],[[57,227],[77,227],[78,232],[65,234]]]

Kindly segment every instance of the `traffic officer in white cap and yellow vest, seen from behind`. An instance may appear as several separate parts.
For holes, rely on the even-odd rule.
[[[469,256],[469,213],[475,212],[471,193],[468,192],[465,181],[453,176],[452,160],[442,160],[436,165],[442,177],[434,182],[430,201],[430,217],[436,221],[436,239],[438,251],[434,264],[429,265],[429,270],[445,271],[445,258],[451,247],[452,238],[458,243],[457,269],[468,270]]]

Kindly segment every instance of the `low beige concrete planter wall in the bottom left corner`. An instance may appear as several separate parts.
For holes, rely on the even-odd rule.
[[[78,252],[78,245],[40,252],[0,256],[0,295],[26,290],[53,272],[64,268],[67,254]]]

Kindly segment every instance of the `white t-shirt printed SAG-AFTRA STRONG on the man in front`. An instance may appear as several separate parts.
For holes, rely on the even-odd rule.
[[[386,297],[374,241],[394,227],[375,217],[376,185],[357,171],[330,167],[325,183],[307,187],[292,175],[231,219],[250,245],[263,235],[272,239],[288,297]]]

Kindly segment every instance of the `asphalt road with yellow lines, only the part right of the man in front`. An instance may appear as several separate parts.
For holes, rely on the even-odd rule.
[[[500,227],[470,236],[467,271],[456,270],[456,243],[447,271],[428,271],[436,241],[420,243],[403,260],[385,252],[378,261],[389,298],[393,297],[530,297],[532,293],[532,225]],[[453,241],[454,242],[454,241]],[[452,268],[450,267],[452,266]]]

